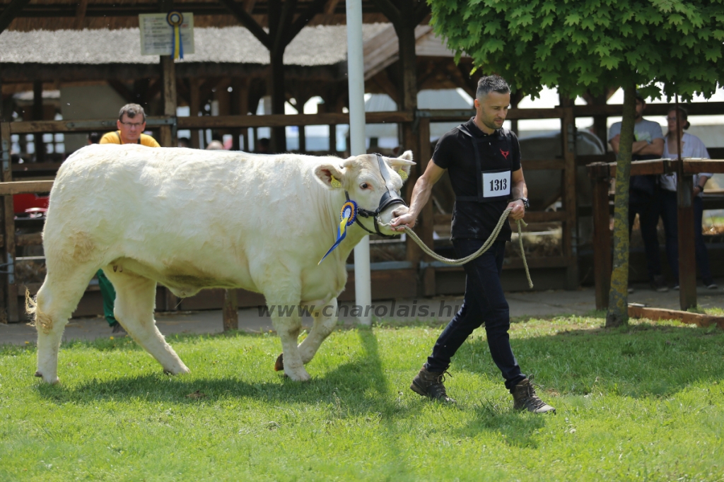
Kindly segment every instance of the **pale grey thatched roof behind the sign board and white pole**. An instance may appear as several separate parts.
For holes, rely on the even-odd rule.
[[[363,25],[363,38],[374,37],[389,24]],[[195,54],[182,64],[213,62],[269,64],[269,51],[243,27],[195,28]],[[287,65],[334,65],[347,59],[344,25],[306,27],[285,51]],[[159,56],[140,54],[138,28],[119,30],[35,30],[0,34],[3,64],[158,64]]]

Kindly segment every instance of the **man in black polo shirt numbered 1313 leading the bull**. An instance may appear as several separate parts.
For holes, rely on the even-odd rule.
[[[432,161],[416,182],[409,211],[392,220],[402,231],[413,227],[430,198],[432,185],[447,169],[455,209],[452,214],[452,245],[458,257],[475,253],[488,239],[506,208],[510,219],[522,219],[529,206],[528,190],[521,168],[521,149],[513,132],[502,127],[508,114],[510,88],[497,75],[478,82],[475,117],[443,135]],[[464,265],[466,292],[463,306],[440,334],[410,388],[442,402],[455,402],[445,391],[445,372],[450,359],[474,329],[485,325],[493,361],[513,394],[513,407],[534,413],[555,413],[535,392],[531,379],[521,372],[510,347],[508,301],[500,283],[505,242],[510,241],[505,223],[497,240],[486,253]]]

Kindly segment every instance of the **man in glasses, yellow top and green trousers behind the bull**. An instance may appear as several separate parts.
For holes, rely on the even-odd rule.
[[[161,147],[156,139],[143,134],[143,130],[146,129],[146,112],[138,103],[129,103],[121,107],[116,127],[118,127],[118,130],[106,133],[101,138],[100,144],[140,144],[147,147]],[[106,321],[111,326],[111,332],[117,337],[125,336],[125,329],[118,323],[113,313],[116,303],[116,290],[111,281],[106,278],[106,274],[102,269],[98,270],[96,277],[103,297],[103,313]]]

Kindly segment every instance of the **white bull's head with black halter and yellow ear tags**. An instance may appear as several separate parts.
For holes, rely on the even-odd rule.
[[[393,212],[399,215],[406,209],[400,190],[414,165],[412,151],[405,151],[398,158],[365,154],[345,159],[341,166],[322,164],[314,173],[327,188],[343,190],[357,203],[358,219],[362,218],[359,221],[365,229],[389,236],[400,234],[387,224],[395,217]]]

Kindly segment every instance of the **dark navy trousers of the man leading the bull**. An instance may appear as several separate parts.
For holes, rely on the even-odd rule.
[[[479,250],[483,242],[453,240],[452,245],[458,258],[463,258]],[[429,371],[447,370],[458,348],[474,329],[485,324],[490,354],[505,379],[505,387],[512,390],[526,378],[510,348],[510,311],[500,284],[503,255],[505,241],[497,241],[486,253],[464,266],[467,275],[465,300],[437,339],[432,355],[427,359]]]

